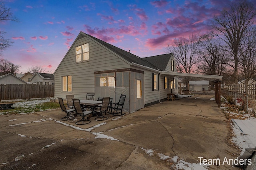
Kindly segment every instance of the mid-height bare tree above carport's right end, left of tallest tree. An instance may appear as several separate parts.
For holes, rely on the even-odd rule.
[[[230,61],[225,52],[213,32],[203,35],[198,50],[198,55],[202,59],[198,64],[198,72],[202,74],[222,75],[226,72],[228,62]]]

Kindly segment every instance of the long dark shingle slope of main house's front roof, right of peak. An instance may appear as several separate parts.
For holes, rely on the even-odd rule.
[[[86,33],[84,33],[86,34]],[[142,58],[129,53],[127,51],[124,51],[118,47],[115,47],[114,45],[111,45],[109,43],[106,43],[105,41],[102,41],[96,37],[93,37],[91,35],[86,34],[88,37],[91,37],[92,39],[94,39],[95,41],[97,41],[98,43],[101,43],[102,45],[104,45],[105,47],[107,47],[108,49],[110,49],[111,51],[113,51],[114,53],[118,54],[120,57],[122,57],[123,59],[125,59],[126,61],[130,62],[130,63],[136,63],[136,64],[140,64],[143,66],[147,66],[149,68],[153,68],[156,70],[159,70],[158,67],[154,66],[152,63],[146,61],[146,60],[142,60]]]

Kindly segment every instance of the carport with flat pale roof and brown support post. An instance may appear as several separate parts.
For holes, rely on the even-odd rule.
[[[180,72],[161,72],[160,75],[172,75],[177,78],[190,78],[190,80],[208,80],[214,82],[215,88],[215,102],[220,107],[220,92],[221,92],[221,80],[222,76],[217,75],[208,75],[208,74],[188,74],[188,73],[180,73]]]

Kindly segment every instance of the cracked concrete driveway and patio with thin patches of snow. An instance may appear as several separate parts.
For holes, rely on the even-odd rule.
[[[0,168],[237,170],[223,163],[239,150],[229,144],[226,118],[212,97],[196,94],[121,117],[107,114],[107,121],[92,117],[87,125],[60,121],[60,109],[0,115]]]

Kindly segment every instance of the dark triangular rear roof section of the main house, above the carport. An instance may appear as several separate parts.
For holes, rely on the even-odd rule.
[[[145,57],[145,58],[142,58],[142,60],[146,60],[149,63],[154,64],[154,66],[159,68],[161,71],[164,71],[166,69],[168,62],[170,61],[171,56],[172,56],[172,53],[156,55],[152,57]]]

